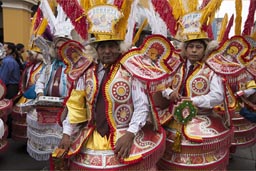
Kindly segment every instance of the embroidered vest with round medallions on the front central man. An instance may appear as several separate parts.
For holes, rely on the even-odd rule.
[[[85,76],[86,107],[89,118],[93,118],[98,94],[96,67],[90,68]],[[106,98],[107,120],[111,127],[128,127],[133,113],[131,75],[120,65],[110,70],[110,78],[103,90]],[[113,130],[112,130],[113,131]]]

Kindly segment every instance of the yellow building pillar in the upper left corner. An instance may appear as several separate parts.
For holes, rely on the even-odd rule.
[[[29,44],[31,17],[39,0],[1,0],[0,42]]]

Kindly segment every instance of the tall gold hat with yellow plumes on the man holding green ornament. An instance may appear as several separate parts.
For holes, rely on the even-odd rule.
[[[169,0],[172,18],[177,21],[173,37],[183,42],[213,38],[211,24],[222,0],[203,2],[199,6],[198,0]]]

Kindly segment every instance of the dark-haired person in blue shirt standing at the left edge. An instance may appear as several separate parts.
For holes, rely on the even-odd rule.
[[[20,69],[19,64],[14,59],[16,51],[15,44],[6,42],[4,43],[6,57],[3,58],[0,66],[0,80],[6,85],[7,93],[5,98],[14,98],[19,91]]]

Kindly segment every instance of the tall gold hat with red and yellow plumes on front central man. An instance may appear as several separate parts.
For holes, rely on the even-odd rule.
[[[102,0],[77,1],[57,0],[76,31],[84,40],[88,33],[95,41],[124,40],[132,0],[107,3]]]

